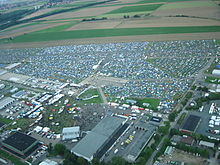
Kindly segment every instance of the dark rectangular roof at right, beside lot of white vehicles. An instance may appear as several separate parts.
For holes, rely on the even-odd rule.
[[[200,122],[201,118],[199,116],[190,115],[185,121],[182,130],[187,130],[190,132],[194,132]]]

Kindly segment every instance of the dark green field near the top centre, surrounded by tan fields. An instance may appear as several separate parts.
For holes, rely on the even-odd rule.
[[[161,4],[153,5],[139,5],[139,6],[125,6],[119,9],[110,11],[106,14],[116,14],[116,13],[130,13],[130,12],[144,12],[144,11],[153,11],[159,8]]]

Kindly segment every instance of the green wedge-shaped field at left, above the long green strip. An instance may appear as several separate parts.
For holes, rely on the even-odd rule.
[[[48,29],[43,29],[40,31],[36,31],[34,33],[50,33],[50,32],[62,32],[68,28],[71,28],[73,25],[77,24],[77,22],[71,22],[71,23],[67,23],[64,25],[59,25],[59,26],[55,26],[52,28],[48,28]]]

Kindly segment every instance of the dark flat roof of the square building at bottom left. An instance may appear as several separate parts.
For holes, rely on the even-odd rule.
[[[24,151],[37,140],[29,135],[21,132],[16,132],[3,141],[3,143],[16,148],[19,151]]]

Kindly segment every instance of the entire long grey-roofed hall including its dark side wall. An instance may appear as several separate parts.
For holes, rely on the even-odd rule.
[[[126,121],[126,119],[115,116],[102,119],[72,148],[71,152],[88,161],[92,161],[94,157],[102,158],[128,127]]]

